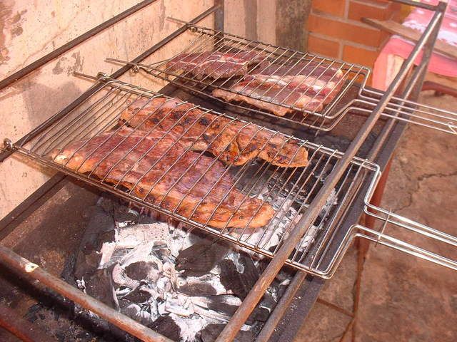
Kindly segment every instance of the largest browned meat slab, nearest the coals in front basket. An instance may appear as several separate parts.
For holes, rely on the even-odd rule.
[[[270,204],[243,195],[221,162],[161,132],[120,128],[51,153],[54,162],[131,190],[163,209],[211,227],[252,230],[274,215]]]

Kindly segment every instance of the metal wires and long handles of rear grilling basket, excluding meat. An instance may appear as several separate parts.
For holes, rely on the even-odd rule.
[[[182,73],[174,72],[174,71],[168,71],[166,68],[166,62],[170,61],[176,56],[179,56],[181,53],[194,53],[196,49],[198,50],[199,46],[199,38],[194,39],[194,41],[189,44],[189,46],[186,46],[181,53],[178,55],[172,56],[171,58],[166,59],[165,61],[159,61],[156,63],[152,64],[144,64],[144,63],[130,63],[129,61],[121,61],[116,58],[106,58],[106,61],[111,61],[115,63],[125,63],[126,65],[131,65],[134,67],[135,72],[139,72],[140,70],[145,71],[151,76],[154,76],[156,78],[159,78],[163,81],[168,81],[169,83],[173,84],[174,86],[177,86],[179,88],[183,88],[185,90],[188,90],[191,93],[199,93],[201,95],[204,95],[207,98],[211,98],[212,100],[217,100],[221,103],[225,103],[226,105],[229,105],[231,108],[238,108],[241,110],[247,110],[248,112],[251,113],[259,113],[261,115],[266,115],[271,118],[276,118],[279,121],[284,121],[286,123],[295,123],[298,125],[302,125],[307,128],[313,128],[315,130],[320,130],[323,132],[328,132],[333,130],[333,128],[340,123],[340,121],[347,115],[348,113],[352,114],[362,114],[362,115],[369,115],[372,110],[376,107],[378,104],[379,100],[381,99],[381,96],[383,95],[383,92],[380,90],[375,90],[373,88],[368,88],[366,87],[366,81],[371,73],[370,69],[365,67],[365,66],[359,66],[357,64],[351,64],[351,63],[346,63],[344,61],[340,61],[338,59],[331,59],[331,58],[324,58],[320,56],[315,56],[311,53],[301,53],[299,51],[294,51],[292,49],[287,49],[287,48],[281,48],[278,46],[272,46],[271,44],[266,44],[262,43],[260,41],[254,41],[254,40],[248,40],[246,38],[243,38],[241,36],[236,36],[232,35],[230,33],[225,33],[223,31],[215,31],[211,28],[206,28],[206,27],[201,27],[201,26],[196,26],[193,24],[189,24],[189,31],[194,32],[194,33],[200,33],[201,35],[206,35],[208,36],[207,41],[211,40],[216,40],[214,44],[217,46],[218,44],[221,45],[221,40],[223,40],[225,37],[231,37],[240,39],[242,40],[239,42],[239,48],[241,48],[241,51],[254,51],[254,49],[258,48],[259,45],[263,44],[264,48],[262,51],[265,51],[266,48],[274,48],[273,52],[271,52],[268,55],[268,58],[273,54],[276,55],[278,54],[276,50],[282,49],[283,53],[281,53],[280,57],[277,58],[283,58],[283,55],[285,53],[291,53],[292,56],[296,53],[301,54],[301,57],[298,58],[298,61],[296,63],[301,63],[301,62],[306,62],[306,63],[315,63],[316,60],[318,61],[318,66],[321,66],[321,64],[326,66],[326,70],[329,68],[333,68],[332,64],[341,64],[337,70],[346,70],[345,76],[341,78],[341,80],[344,80],[346,78],[346,84],[341,87],[340,90],[338,90],[337,95],[333,100],[331,100],[330,103],[326,104],[324,110],[322,113],[312,111],[312,110],[306,110],[302,108],[297,108],[294,107],[293,105],[286,105],[283,103],[276,103],[270,100],[265,100],[262,98],[262,95],[260,96],[252,96],[252,95],[246,95],[244,93],[241,93],[236,90],[231,90],[232,86],[235,86],[238,84],[238,82],[242,81],[243,78],[240,78],[238,81],[235,81],[233,84],[231,81],[233,81],[233,76],[225,79],[222,81],[222,85],[216,84],[217,80],[212,80],[211,81],[206,81],[208,76],[205,76],[202,79],[199,79],[198,75],[194,76],[191,74],[190,71],[184,71]],[[222,38],[221,38],[222,37]],[[197,43],[197,47],[195,44]],[[204,41],[203,43],[206,43]],[[201,44],[203,44],[201,43]],[[253,46],[254,47],[251,47]],[[238,47],[237,47],[238,48]],[[242,49],[242,48],[248,48],[248,49]],[[249,50],[250,48],[250,50]],[[216,49],[214,52],[219,52],[218,49]],[[289,56],[288,59],[291,57]],[[297,57],[293,57],[297,58]],[[296,65],[296,63],[293,63],[293,66]],[[164,68],[165,66],[165,68]],[[345,66],[345,68],[343,68]],[[347,74],[351,73],[351,69],[356,69],[356,71],[352,71],[355,73],[352,77],[348,77]],[[357,70],[358,69],[358,70]],[[325,72],[325,71],[324,71]],[[248,73],[250,75],[250,73]],[[362,76],[362,77],[359,77]],[[306,78],[308,78],[306,76]],[[333,78],[334,76],[332,76]],[[331,78],[331,79],[332,79]],[[331,79],[329,81],[331,81]],[[340,81],[341,81],[340,80]],[[358,82],[357,82],[358,81]],[[224,86],[226,83],[229,83],[229,87]],[[290,83],[290,82],[289,82]],[[303,83],[303,81],[301,81]],[[339,82],[338,82],[339,83]],[[358,83],[359,88],[358,88],[358,93],[356,98],[353,98],[349,100],[347,103],[341,103],[341,99],[343,96],[348,92],[348,90],[351,88],[351,86],[354,85],[354,83]],[[197,86],[199,85],[199,86]],[[202,88],[199,88],[202,87]],[[296,86],[298,87],[298,86]],[[258,88],[258,86],[257,86]],[[286,88],[286,86],[284,86]],[[205,91],[209,89],[208,91]],[[246,95],[248,97],[253,98],[254,100],[261,100],[262,102],[265,103],[270,103],[272,105],[281,105],[283,108],[293,108],[296,110],[296,113],[293,113],[292,115],[286,115],[286,116],[278,116],[274,115],[273,113],[270,113],[268,110],[263,110],[261,108],[257,108],[254,105],[248,105],[248,104],[236,104],[236,103],[231,103],[227,100],[224,100],[222,98],[218,98],[214,95],[211,95],[211,90],[216,90],[216,89],[221,89],[221,90],[226,90],[231,93],[236,93],[240,95]],[[268,90],[266,90],[268,91]],[[282,90],[281,90],[282,91]],[[281,92],[280,91],[280,92]],[[333,90],[332,90],[333,91]],[[316,95],[314,95],[312,98],[316,98],[318,94],[321,92],[321,90],[318,91]],[[341,108],[338,110],[335,110],[336,106],[339,105]],[[371,109],[368,108],[363,108],[363,106],[370,106]],[[303,115],[303,120],[296,120],[295,115]],[[288,116],[291,116],[289,118]],[[449,133],[451,135],[457,135],[457,113],[453,113],[449,110],[441,110],[439,108],[433,108],[431,106],[426,106],[422,105],[420,103],[416,103],[411,100],[406,100],[405,98],[400,98],[400,97],[393,97],[391,101],[388,103],[386,106],[385,110],[381,113],[381,116],[383,118],[393,118],[395,120],[403,121],[406,123],[413,123],[414,125],[420,125],[422,127],[426,128],[431,128],[434,130],[438,130],[444,133]]]

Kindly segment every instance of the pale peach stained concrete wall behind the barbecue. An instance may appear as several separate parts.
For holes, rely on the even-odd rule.
[[[9,76],[138,2],[1,0],[0,78]],[[283,4],[279,0],[226,0],[226,31],[275,43],[278,2]],[[293,6],[300,6],[306,1],[290,2]],[[156,1],[0,91],[0,139],[15,141],[21,138],[91,86],[91,82],[74,77],[74,71],[89,75],[96,75],[99,71],[111,73],[119,66],[105,62],[106,57],[124,60],[134,58],[179,27],[176,22],[167,20],[167,16],[190,20],[212,5],[213,0]],[[212,16],[200,24],[212,27]],[[146,63],[160,61],[177,53],[190,40],[190,35],[181,36],[155,53]],[[152,90],[163,86],[163,83],[141,73],[129,73],[121,79]],[[31,195],[52,174],[51,170],[39,167],[19,155],[13,155],[1,163],[0,218]]]

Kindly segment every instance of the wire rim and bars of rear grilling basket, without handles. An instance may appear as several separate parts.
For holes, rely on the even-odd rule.
[[[341,98],[348,92],[348,90],[353,86],[354,83],[361,84],[361,89],[363,86],[366,85],[366,81],[368,79],[369,74],[371,73],[370,69],[367,68],[366,66],[359,66],[354,63],[347,63],[345,61],[341,61],[338,59],[331,59],[331,58],[325,58],[321,56],[316,56],[311,53],[303,53],[300,51],[293,50],[291,48],[282,48],[280,46],[273,46],[271,44],[266,44],[261,41],[256,41],[256,40],[248,40],[246,38],[243,38],[241,36],[236,36],[231,33],[225,33],[223,31],[215,31],[212,28],[206,28],[202,26],[196,26],[193,24],[189,24],[189,31],[192,33],[198,33],[201,36],[205,36],[204,41],[199,41],[200,37],[197,37],[192,41],[189,46],[186,46],[181,53],[192,53],[193,51],[197,51],[198,48],[200,48],[204,43],[212,42],[214,43],[215,46],[221,46],[219,48],[216,48],[214,52],[220,51],[221,48],[224,47],[223,41],[224,40],[229,40],[232,42],[236,42],[238,46],[236,47],[236,50],[233,50],[235,55],[236,53],[240,51],[258,51],[260,50],[262,53],[266,53],[268,56],[266,58],[273,58],[274,61],[278,61],[280,59],[285,58],[286,61],[283,61],[282,63],[278,63],[278,66],[285,66],[286,64],[284,63],[291,63],[291,61],[294,61],[292,66],[296,66],[298,63],[305,63],[306,66],[308,66],[310,63],[317,63],[316,67],[325,67],[325,71],[330,70],[333,68],[336,71],[343,71],[343,77],[341,80],[338,81],[338,83],[345,83],[338,85],[338,87],[341,87],[340,90],[338,90],[336,96],[331,100],[330,103],[327,103],[325,107],[323,108],[323,111],[317,112],[313,110],[307,110],[306,108],[298,108],[294,105],[287,105],[286,103],[277,103],[271,100],[265,100],[262,98],[262,96],[251,96],[249,97],[254,98],[255,100],[261,100],[262,102],[265,103],[270,103],[272,105],[279,105],[283,108],[288,108],[288,109],[293,109],[295,110],[294,113],[290,115],[285,115],[283,117],[274,115],[273,113],[268,112],[268,110],[262,110],[261,108],[256,108],[253,105],[238,105],[236,103],[230,103],[229,101],[226,101],[222,98],[217,98],[214,95],[211,95],[211,91],[215,89],[222,89],[229,91],[231,93],[238,93],[240,95],[245,95],[243,93],[240,93],[236,90],[231,90],[231,87],[236,85],[238,82],[242,81],[241,79],[235,80],[236,77],[230,76],[229,78],[224,79],[222,81],[222,85],[216,84],[217,80],[214,80],[212,78],[209,78],[209,76],[204,76],[203,79],[199,79],[198,77],[192,75],[189,73],[189,71],[186,71],[184,73],[178,73],[174,71],[167,71],[166,68],[164,69],[163,67],[165,66],[166,62],[171,60],[172,58],[178,56],[172,56],[171,58],[166,59],[165,61],[159,61],[153,64],[144,64],[144,63],[130,63],[128,61],[121,61],[116,58],[106,58],[106,61],[111,61],[115,63],[126,63],[126,64],[132,64],[134,66],[134,71],[139,71],[140,69],[145,71],[146,73],[149,73],[151,76],[154,76],[156,78],[159,78],[163,81],[167,81],[169,83],[174,84],[174,86],[178,86],[179,88],[184,88],[186,90],[189,90],[193,93],[199,93],[201,95],[204,95],[208,98],[211,98],[213,100],[217,100],[221,103],[225,103],[227,105],[230,105],[233,108],[239,108],[241,110],[249,110],[251,112],[255,113],[260,113],[261,115],[266,115],[271,118],[276,118],[278,120],[282,120],[286,123],[298,123],[299,125],[302,125],[304,127],[309,127],[309,128],[315,128],[318,130],[331,130],[334,125],[336,125],[338,119],[346,113],[346,108],[351,105],[352,101],[349,103],[345,103],[343,108],[339,110],[333,110],[336,105],[340,104]],[[230,49],[234,49],[233,46]],[[273,49],[273,51],[265,52],[268,51],[267,49]],[[200,51],[199,51],[200,52]],[[201,51],[204,52],[204,51]],[[180,53],[179,53],[180,54]],[[271,57],[273,56],[273,57]],[[264,59],[266,59],[264,58]],[[313,64],[314,65],[314,64]],[[287,66],[289,66],[287,64]],[[315,68],[316,68],[315,67]],[[303,67],[304,68],[304,67]],[[302,69],[303,69],[302,68]],[[323,73],[325,72],[323,71]],[[312,73],[312,71],[311,71]],[[198,75],[197,75],[198,76]],[[329,81],[332,81],[334,75],[331,77],[330,80],[328,80],[326,83]],[[310,78],[310,74],[306,76],[305,79]],[[317,78],[313,78],[315,81],[317,81]],[[233,82],[234,81],[234,82]],[[304,81],[304,80],[303,80]],[[303,83],[301,81],[301,83]],[[233,82],[233,84],[231,84]],[[187,84],[190,83],[191,85]],[[289,82],[290,83],[290,82]],[[199,88],[196,85],[201,86],[202,88]],[[229,84],[229,86],[225,86],[226,84]],[[298,85],[299,86],[299,85]],[[295,88],[297,88],[296,86]],[[256,87],[258,88],[258,86]],[[270,87],[271,88],[271,87]],[[284,86],[284,89],[286,86]],[[209,90],[209,92],[208,92]],[[334,89],[331,90],[333,92]],[[279,91],[278,93],[282,92],[283,90]],[[290,93],[290,90],[287,90],[288,93]],[[315,95],[310,95],[311,99],[316,99],[321,93],[322,90],[318,90],[318,93]],[[359,90],[360,92],[361,90]],[[326,95],[327,97],[328,95]],[[299,118],[296,118],[297,116],[302,116],[302,119],[299,120]]]

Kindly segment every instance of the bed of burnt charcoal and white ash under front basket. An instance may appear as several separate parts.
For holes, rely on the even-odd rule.
[[[113,205],[106,205],[106,200],[99,201],[99,205],[110,208],[112,217],[119,207],[123,206],[121,210],[124,211],[129,207],[119,204],[122,202],[119,199],[113,202]],[[139,216],[135,209],[129,209],[129,212]],[[204,341],[204,338],[213,341],[209,339],[211,326],[205,328],[214,323],[224,326],[241,304],[241,299],[222,284],[224,270],[218,264],[229,261],[236,279],[253,279],[258,277],[258,271],[251,256],[229,249],[226,242],[206,237],[196,229],[185,232],[165,222],[130,225],[117,221],[120,218],[116,216],[114,229],[98,232],[88,229],[87,235],[94,239],[93,245],[99,249],[81,249],[79,254],[97,252],[101,258],[98,263],[79,266],[83,274],[77,279],[79,287],[96,298],[106,299],[110,306],[175,341]],[[129,220],[129,217],[124,218]],[[87,239],[86,234],[84,239]],[[209,261],[204,261],[202,267],[198,257],[207,251]],[[80,261],[84,259],[78,257]],[[197,262],[196,267],[191,265],[193,260]],[[180,262],[184,269],[179,270]],[[187,267],[199,269],[200,273],[203,269],[207,271],[201,276],[188,276]],[[276,289],[271,291],[277,293]],[[276,305],[273,296],[267,293],[246,322],[241,333],[246,341],[253,341],[259,325],[266,321]],[[118,341],[128,341],[127,336]]]

